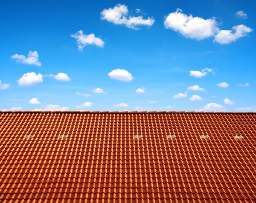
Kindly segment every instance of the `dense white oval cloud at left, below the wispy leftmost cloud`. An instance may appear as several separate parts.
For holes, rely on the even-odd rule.
[[[40,73],[38,75],[34,72],[26,73],[17,82],[20,87],[29,87],[43,82],[43,76]]]

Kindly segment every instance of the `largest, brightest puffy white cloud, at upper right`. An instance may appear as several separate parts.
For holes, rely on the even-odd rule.
[[[202,17],[193,17],[183,14],[180,8],[170,13],[164,20],[164,26],[179,32],[186,38],[202,40],[213,37],[218,31],[218,23],[215,18],[204,19]]]

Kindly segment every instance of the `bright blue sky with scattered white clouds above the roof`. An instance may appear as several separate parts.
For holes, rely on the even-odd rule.
[[[256,111],[255,6],[6,1],[0,110]]]

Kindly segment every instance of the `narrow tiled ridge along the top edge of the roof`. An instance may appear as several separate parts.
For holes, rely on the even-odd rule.
[[[0,113],[256,113],[223,111],[0,111]]]

